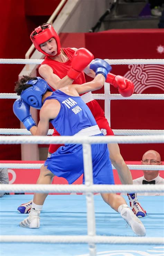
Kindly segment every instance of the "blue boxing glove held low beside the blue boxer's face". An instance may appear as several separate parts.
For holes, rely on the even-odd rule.
[[[28,131],[31,127],[36,126],[36,123],[30,114],[30,106],[22,99],[16,99],[13,104],[13,112]]]

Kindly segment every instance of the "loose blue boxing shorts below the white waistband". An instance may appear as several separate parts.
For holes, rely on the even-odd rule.
[[[103,134],[94,136],[103,136]],[[93,183],[115,184],[107,144],[92,144],[91,149]],[[63,177],[67,179],[69,184],[72,184],[84,174],[82,145],[65,144],[59,147],[56,152],[47,158],[44,165],[54,175]],[[85,179],[83,178],[84,182]]]

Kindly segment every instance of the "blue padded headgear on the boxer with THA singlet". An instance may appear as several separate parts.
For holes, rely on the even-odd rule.
[[[29,80],[26,83],[31,85],[26,90],[21,92],[21,99],[25,101],[31,107],[35,107],[35,109],[41,109],[43,106],[42,96],[46,93],[46,91],[53,91],[51,87],[48,86],[47,82],[40,78],[36,77],[37,80]]]

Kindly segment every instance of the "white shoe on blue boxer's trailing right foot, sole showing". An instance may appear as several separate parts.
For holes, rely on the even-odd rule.
[[[144,224],[139,218],[133,213],[129,207],[124,207],[121,210],[121,217],[130,225],[133,232],[139,237],[144,237],[146,235],[146,230]]]

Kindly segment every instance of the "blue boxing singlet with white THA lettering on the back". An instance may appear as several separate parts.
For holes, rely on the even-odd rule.
[[[56,99],[61,104],[57,117],[50,122],[62,136],[72,136],[80,130],[97,125],[89,107],[80,96],[69,96],[56,90],[48,99]]]

